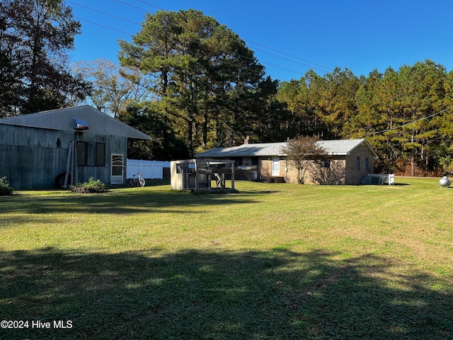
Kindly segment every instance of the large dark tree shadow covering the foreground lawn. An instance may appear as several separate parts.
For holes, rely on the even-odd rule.
[[[30,324],[0,339],[452,339],[448,283],[393,276],[397,263],[380,256],[335,256],[1,252],[1,319]]]

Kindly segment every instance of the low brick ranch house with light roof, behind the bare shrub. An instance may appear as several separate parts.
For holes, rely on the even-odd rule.
[[[365,139],[320,140],[328,154],[323,162],[311,162],[304,183],[358,185],[374,170],[377,154]],[[251,144],[248,139],[238,147],[216,147],[196,154],[202,159],[235,161],[235,178],[297,183],[298,171],[282,149],[287,142]]]

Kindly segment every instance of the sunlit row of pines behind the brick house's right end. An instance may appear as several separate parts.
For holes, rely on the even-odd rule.
[[[366,138],[378,171],[411,176],[453,171],[453,72],[431,60],[356,77],[334,69],[280,84],[294,135]]]

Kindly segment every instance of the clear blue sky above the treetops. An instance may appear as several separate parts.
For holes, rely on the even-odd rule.
[[[226,25],[255,51],[273,79],[334,67],[367,76],[426,59],[453,69],[453,2],[421,0],[71,0],[82,24],[74,61],[117,62],[144,15],[194,8]],[[80,6],[81,5],[81,6]],[[89,9],[91,8],[91,9]],[[96,11],[93,11],[96,10]],[[110,14],[107,15],[106,13]]]

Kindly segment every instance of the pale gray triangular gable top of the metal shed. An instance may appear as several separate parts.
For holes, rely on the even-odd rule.
[[[73,108],[61,108],[58,110],[42,111],[30,113],[28,115],[18,115],[16,117],[0,119],[0,123],[9,125],[21,125],[31,128],[42,128],[50,130],[74,131],[75,122],[86,123],[88,129],[81,128],[86,132],[97,135],[115,135],[127,137],[133,140],[150,140],[151,137],[145,135],[137,129],[116,120],[102,113],[96,108],[88,105],[75,106]],[[85,127],[86,128],[86,127]]]

